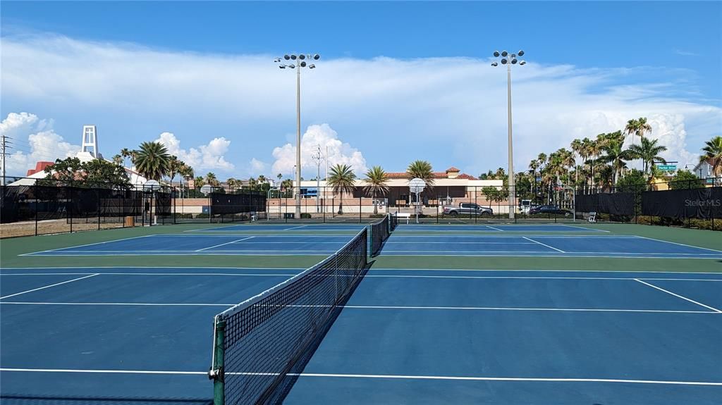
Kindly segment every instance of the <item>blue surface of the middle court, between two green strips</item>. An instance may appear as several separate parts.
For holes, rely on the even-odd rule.
[[[106,255],[321,255],[346,244],[345,235],[152,235],[71,246],[28,256]],[[394,233],[386,256],[532,256],[722,259],[722,251],[648,239],[607,235],[409,235]]]

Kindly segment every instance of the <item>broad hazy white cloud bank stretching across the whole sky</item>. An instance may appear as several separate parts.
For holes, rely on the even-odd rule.
[[[156,128],[158,123],[198,133],[184,135],[184,143],[192,145],[206,142],[199,136],[223,134],[187,150],[175,136],[166,135],[166,141],[196,169],[230,172],[238,167],[240,173],[229,174],[244,177],[261,169],[251,159],[263,162],[273,156],[273,176],[293,170],[294,137],[274,147],[295,128],[295,77],[269,65],[274,55],[172,52],[48,35],[5,35],[0,41],[4,108],[38,105],[52,110],[58,123],[82,111],[90,120],[104,120],[101,133],[123,134],[100,140],[110,150],[148,141],[136,128]],[[506,75],[488,62],[319,61],[318,68],[302,77],[304,138],[320,137],[303,146],[304,177],[316,173],[306,148],[321,141],[323,148],[326,143],[334,147],[331,163],[351,164],[357,173],[367,161],[390,172],[404,170],[415,159],[470,174],[506,166]],[[648,117],[652,136],[662,137],[669,159],[680,163],[693,160],[704,141],[720,135],[719,101],[688,91],[695,87],[692,70],[581,69],[533,62],[514,69],[517,170],[541,151],[622,129],[635,117]],[[320,123],[336,128],[343,141],[329,125],[310,125]]]

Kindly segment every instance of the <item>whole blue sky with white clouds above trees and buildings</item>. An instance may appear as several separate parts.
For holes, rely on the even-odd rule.
[[[478,176],[507,166],[492,53],[523,49],[517,172],[637,117],[691,167],[722,135],[721,22],[720,1],[3,1],[6,166],[72,156],[92,124],[106,158],[160,141],[199,175],[290,178],[296,78],[273,59],[319,53],[301,72],[305,178],[317,146],[360,177],[416,159]]]

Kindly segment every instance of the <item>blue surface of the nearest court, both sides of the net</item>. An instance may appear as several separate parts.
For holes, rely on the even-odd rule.
[[[1,390],[207,399],[213,316],[300,271],[3,269]],[[372,269],[285,403],[718,404],[720,308],[719,274]]]

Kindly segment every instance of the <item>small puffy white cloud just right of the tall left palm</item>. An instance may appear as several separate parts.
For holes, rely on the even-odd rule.
[[[178,159],[191,165],[196,172],[216,169],[230,172],[234,168],[233,164],[225,160],[224,155],[230,146],[230,141],[227,141],[226,138],[214,138],[207,145],[188,150],[181,148],[181,140],[170,132],[161,133],[156,142],[165,145],[168,153],[178,156]]]

